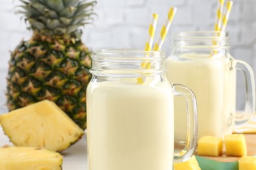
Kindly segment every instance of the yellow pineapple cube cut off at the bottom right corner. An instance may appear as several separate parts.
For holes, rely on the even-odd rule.
[[[256,157],[242,156],[238,160],[239,170],[255,170],[256,169]]]

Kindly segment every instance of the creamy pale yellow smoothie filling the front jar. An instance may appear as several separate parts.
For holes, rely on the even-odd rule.
[[[173,169],[173,91],[168,82],[151,85],[89,84],[90,170]]]

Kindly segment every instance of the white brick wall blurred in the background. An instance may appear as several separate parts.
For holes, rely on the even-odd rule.
[[[256,75],[256,0],[233,0],[226,27],[230,36],[230,53],[249,63]],[[0,0],[0,109],[5,108],[5,88],[10,51],[21,39],[29,39],[20,14],[15,14],[18,0]],[[171,29],[162,50],[171,51],[172,31],[213,31],[217,0],[98,0],[93,25],[83,29],[83,42],[91,49],[144,48],[152,13],[158,13],[156,36],[167,17],[170,6],[177,7]],[[237,108],[244,107],[244,84],[238,74]],[[1,114],[1,113],[0,113]]]

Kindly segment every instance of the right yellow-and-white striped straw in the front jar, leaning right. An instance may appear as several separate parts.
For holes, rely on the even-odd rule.
[[[161,50],[161,46],[163,45],[163,41],[165,41],[165,37],[167,35],[167,31],[169,30],[171,22],[173,22],[173,17],[175,16],[176,10],[177,9],[175,7],[171,7],[169,9],[168,18],[165,21],[165,24],[163,25],[163,27],[161,27],[160,36],[158,37],[158,41],[154,46],[154,49],[153,49],[154,51]]]

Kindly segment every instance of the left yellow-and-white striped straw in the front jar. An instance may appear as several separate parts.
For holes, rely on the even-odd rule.
[[[148,38],[147,38],[145,49],[144,49],[145,51],[151,51],[157,22],[158,22],[158,14],[152,14],[152,20],[148,27]],[[150,67],[149,65],[150,63],[144,63],[144,62],[141,63],[142,69],[144,69],[145,67]],[[142,84],[143,82],[144,80],[142,77],[137,78],[137,83]]]

